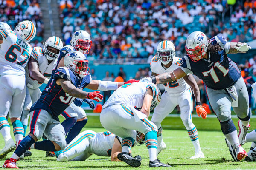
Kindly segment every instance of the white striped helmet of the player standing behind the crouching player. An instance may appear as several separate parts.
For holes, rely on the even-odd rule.
[[[157,45],[157,57],[163,64],[168,64],[175,56],[175,46],[171,41],[161,41]]]

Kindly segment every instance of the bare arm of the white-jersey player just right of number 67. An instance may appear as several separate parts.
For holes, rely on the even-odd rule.
[[[49,81],[49,79],[44,77],[43,74],[41,74],[41,72],[39,71],[38,62],[34,58],[30,57],[28,67],[29,67],[30,77],[32,77],[33,79],[36,79],[38,82]]]

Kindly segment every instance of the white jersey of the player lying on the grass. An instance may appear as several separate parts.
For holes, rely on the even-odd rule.
[[[93,153],[98,156],[111,156],[111,150],[115,137],[116,135],[109,131],[96,133],[92,139],[92,142],[90,142]]]

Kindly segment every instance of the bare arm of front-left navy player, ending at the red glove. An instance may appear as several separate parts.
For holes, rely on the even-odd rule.
[[[88,98],[88,92],[82,91],[79,88],[76,88],[75,85],[73,85],[70,81],[65,79],[57,79],[56,80],[57,85],[61,85],[62,89],[73,97],[78,97],[80,99]]]

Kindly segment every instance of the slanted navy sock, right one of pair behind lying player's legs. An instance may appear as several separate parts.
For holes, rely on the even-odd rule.
[[[77,121],[75,125],[73,125],[66,137],[67,144],[69,144],[81,132],[87,121],[88,119],[86,118],[82,121]]]

